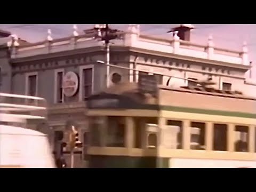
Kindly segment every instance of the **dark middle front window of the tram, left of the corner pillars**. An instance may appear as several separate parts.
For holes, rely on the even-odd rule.
[[[124,147],[124,120],[123,117],[108,117],[107,147]]]

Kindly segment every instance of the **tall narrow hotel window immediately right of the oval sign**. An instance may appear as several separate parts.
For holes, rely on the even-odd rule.
[[[84,99],[92,94],[92,68],[83,69]]]

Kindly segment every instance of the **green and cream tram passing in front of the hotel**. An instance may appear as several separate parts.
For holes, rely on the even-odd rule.
[[[89,167],[256,167],[256,98],[197,85],[143,89],[120,83],[87,100]]]

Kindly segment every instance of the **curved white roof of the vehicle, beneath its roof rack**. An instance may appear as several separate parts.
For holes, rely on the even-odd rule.
[[[26,128],[18,127],[18,126],[9,126],[9,125],[0,125],[0,135],[1,134],[46,136],[45,134],[43,134],[39,131],[26,129]]]

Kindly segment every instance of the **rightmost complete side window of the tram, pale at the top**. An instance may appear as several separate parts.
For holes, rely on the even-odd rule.
[[[235,151],[248,152],[249,127],[235,126]]]

